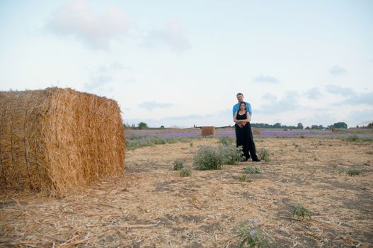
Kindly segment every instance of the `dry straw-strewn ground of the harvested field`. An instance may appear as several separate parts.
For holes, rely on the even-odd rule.
[[[373,246],[373,144],[337,139],[257,138],[272,152],[260,174],[243,167],[180,177],[199,145],[217,139],[127,152],[126,173],[69,194],[1,196],[0,247],[238,247],[232,227],[258,219],[270,247]],[[359,176],[348,176],[351,167]],[[312,218],[290,216],[302,203]]]

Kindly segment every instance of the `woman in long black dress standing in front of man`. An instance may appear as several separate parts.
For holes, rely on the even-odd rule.
[[[246,111],[246,103],[241,102],[239,111],[234,114],[234,122],[236,123],[236,145],[242,147],[245,161],[251,158],[253,161],[260,162],[256,156],[255,148],[253,147],[253,134],[250,128],[250,114]],[[249,154],[250,152],[250,154]]]

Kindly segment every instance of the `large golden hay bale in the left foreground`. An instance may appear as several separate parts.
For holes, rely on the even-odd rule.
[[[72,89],[0,91],[0,186],[50,195],[124,171],[117,103]]]

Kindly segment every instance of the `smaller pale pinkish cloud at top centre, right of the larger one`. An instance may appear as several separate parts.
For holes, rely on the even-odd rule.
[[[175,52],[185,52],[192,47],[179,21],[171,21],[160,30],[151,30],[142,45],[151,48],[166,46]]]

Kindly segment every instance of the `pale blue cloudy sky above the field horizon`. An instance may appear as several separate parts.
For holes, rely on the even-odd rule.
[[[371,0],[1,0],[0,91],[113,98],[123,122],[373,120]]]

